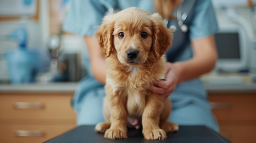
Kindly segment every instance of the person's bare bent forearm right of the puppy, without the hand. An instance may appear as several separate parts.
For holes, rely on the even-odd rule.
[[[176,62],[174,65],[179,69],[178,83],[195,79],[204,73],[208,73],[215,67],[218,58],[215,40],[213,37],[192,42],[194,57],[184,61]]]

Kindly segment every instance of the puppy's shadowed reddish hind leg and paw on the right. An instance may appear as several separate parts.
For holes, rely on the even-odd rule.
[[[176,123],[167,122],[170,114],[171,114],[171,101],[167,99],[165,101],[163,111],[160,115],[159,126],[165,132],[176,132],[177,130],[179,130],[179,126]]]

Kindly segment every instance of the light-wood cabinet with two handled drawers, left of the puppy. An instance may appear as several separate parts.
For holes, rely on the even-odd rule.
[[[73,93],[0,93],[0,143],[42,143],[76,127]]]

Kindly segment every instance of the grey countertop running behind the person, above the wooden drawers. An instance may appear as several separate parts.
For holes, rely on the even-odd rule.
[[[34,83],[34,84],[0,84],[1,92],[42,92],[74,93],[77,82]],[[208,93],[256,93],[256,83],[246,84],[204,84]]]

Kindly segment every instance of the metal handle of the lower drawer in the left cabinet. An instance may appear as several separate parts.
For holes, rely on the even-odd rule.
[[[44,136],[44,132],[41,130],[14,130],[14,136]]]

